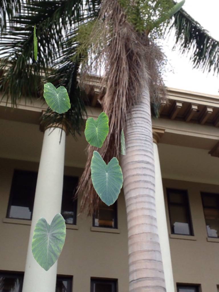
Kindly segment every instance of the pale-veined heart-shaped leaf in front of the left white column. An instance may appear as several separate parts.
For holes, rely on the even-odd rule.
[[[65,219],[56,214],[51,225],[40,218],[34,228],[32,253],[37,263],[48,271],[58,260],[65,243]]]

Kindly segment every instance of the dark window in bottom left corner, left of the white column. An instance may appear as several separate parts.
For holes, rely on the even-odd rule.
[[[0,292],[21,292],[22,274],[0,274]]]

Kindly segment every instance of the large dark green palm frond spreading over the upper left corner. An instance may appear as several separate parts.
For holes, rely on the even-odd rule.
[[[0,80],[3,97],[16,105],[21,95],[39,97],[42,86],[38,75],[48,75],[59,58],[68,31],[98,13],[100,0],[38,0],[22,4],[0,37],[0,70],[10,64]],[[4,10],[5,17],[7,8]],[[34,61],[33,33],[36,25],[38,57]],[[6,55],[6,56],[5,56]]]

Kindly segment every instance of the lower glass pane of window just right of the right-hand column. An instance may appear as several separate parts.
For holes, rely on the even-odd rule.
[[[190,226],[187,218],[187,210],[184,206],[169,206],[171,227],[176,234],[190,235]]]

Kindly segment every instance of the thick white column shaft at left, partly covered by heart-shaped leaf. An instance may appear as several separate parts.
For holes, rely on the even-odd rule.
[[[63,130],[61,142],[60,134],[60,128],[48,128],[44,133],[22,292],[55,292],[57,262],[45,271],[33,257],[32,237],[39,218],[51,224],[61,212],[66,134]]]

